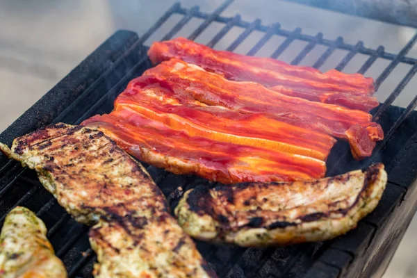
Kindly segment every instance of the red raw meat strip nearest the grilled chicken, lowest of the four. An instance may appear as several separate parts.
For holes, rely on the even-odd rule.
[[[190,136],[123,105],[83,124],[101,129],[141,161],[174,174],[236,183],[315,179],[326,171],[325,163],[315,158]]]

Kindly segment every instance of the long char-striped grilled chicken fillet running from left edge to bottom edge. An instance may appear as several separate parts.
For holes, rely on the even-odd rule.
[[[75,220],[95,224],[95,277],[215,277],[142,165],[101,131],[55,124],[0,149],[35,169]]]

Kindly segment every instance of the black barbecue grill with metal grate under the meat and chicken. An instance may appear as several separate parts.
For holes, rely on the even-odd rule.
[[[417,34],[398,54],[392,54],[384,51],[384,47],[364,47],[362,42],[347,44],[343,38],[328,40],[321,33],[306,35],[299,28],[287,31],[279,24],[265,26],[259,19],[246,22],[239,15],[222,17],[220,14],[231,1],[224,1],[213,13],[204,13],[198,7],[183,8],[175,3],[140,38],[131,31],[117,31],[1,133],[0,142],[10,145],[15,137],[46,124],[79,124],[92,115],[109,113],[115,97],[127,83],[152,67],[147,58],[148,47],[143,43],[173,15],[180,15],[181,19],[161,40],[174,38],[190,19],[198,18],[203,22],[188,36],[191,40],[195,40],[212,22],[223,25],[208,42],[209,47],[215,46],[231,28],[238,26],[243,28],[243,32],[227,48],[229,51],[234,51],[252,31],[260,31],[263,32],[262,38],[254,43],[247,55],[256,54],[273,35],[279,35],[285,39],[277,45],[272,58],[277,58],[294,40],[306,42],[304,49],[291,62],[293,65],[299,64],[316,45],[327,47],[313,63],[312,66],[316,68],[323,65],[336,49],[348,51],[336,66],[336,70],[340,71],[356,54],[367,56],[366,62],[357,71],[361,74],[365,74],[375,60],[389,60],[389,65],[376,79],[376,88],[399,64],[411,65],[388,99],[372,111],[374,119],[382,125],[386,134],[385,139],[377,144],[373,156],[364,161],[354,161],[347,143],[338,142],[327,161],[328,176],[365,167],[375,161],[382,161],[386,165],[389,183],[382,200],[373,213],[359,222],[357,229],[334,240],[288,247],[243,248],[197,241],[199,251],[220,277],[381,276],[416,210],[417,113],[414,108],[417,106],[417,97],[406,108],[391,104],[417,72],[417,59],[407,57],[407,52],[417,41]],[[172,194],[177,187],[189,189],[208,183],[199,177],[170,174],[144,165],[169,197],[172,206],[177,201]],[[44,190],[34,171],[0,155],[0,224],[6,213],[17,205],[28,207],[44,220],[49,229],[48,238],[56,254],[67,266],[69,277],[92,276],[95,254],[88,243],[88,227],[72,220],[56,199]]]

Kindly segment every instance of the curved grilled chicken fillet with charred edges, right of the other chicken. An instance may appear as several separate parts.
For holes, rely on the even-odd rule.
[[[386,186],[376,164],[315,181],[240,183],[188,190],[175,215],[199,240],[240,246],[287,245],[345,234],[373,211]]]

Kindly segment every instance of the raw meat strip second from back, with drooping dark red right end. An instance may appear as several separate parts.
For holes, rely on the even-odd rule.
[[[143,75],[175,83],[176,94],[185,98],[192,96],[204,104],[224,106],[240,113],[272,113],[304,122],[315,131],[347,140],[357,160],[370,156],[375,142],[384,138],[382,127],[371,122],[372,115],[363,111],[288,97],[258,83],[227,81],[182,60],[163,62]],[[134,86],[134,81],[129,86]]]

